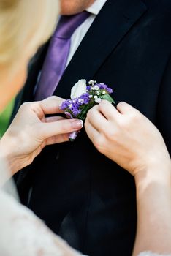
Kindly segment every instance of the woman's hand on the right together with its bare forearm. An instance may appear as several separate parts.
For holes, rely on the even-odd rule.
[[[170,252],[171,162],[159,130],[132,106],[121,102],[115,109],[107,101],[89,110],[85,127],[94,146],[135,178],[133,255]]]

